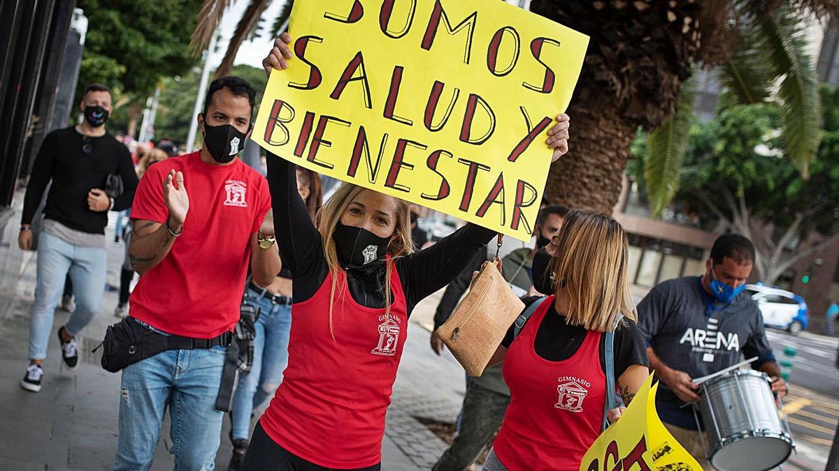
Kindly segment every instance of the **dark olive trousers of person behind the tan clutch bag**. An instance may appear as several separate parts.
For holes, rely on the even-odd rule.
[[[458,417],[460,431],[451,447],[434,465],[434,471],[462,471],[472,464],[483,447],[501,428],[504,413],[510,404],[510,396],[477,386],[466,379],[466,395]]]

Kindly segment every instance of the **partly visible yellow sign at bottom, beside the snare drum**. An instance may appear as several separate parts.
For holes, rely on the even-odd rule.
[[[670,432],[655,411],[653,375],[635,395],[627,410],[591,445],[580,463],[580,471],[702,471]]]

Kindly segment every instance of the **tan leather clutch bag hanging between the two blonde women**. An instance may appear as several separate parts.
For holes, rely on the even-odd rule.
[[[454,313],[435,334],[470,376],[480,376],[524,303],[491,261],[485,261]]]

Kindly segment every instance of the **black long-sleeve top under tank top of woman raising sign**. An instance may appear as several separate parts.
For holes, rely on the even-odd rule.
[[[268,187],[274,208],[274,230],[284,265],[294,280],[294,303],[315,295],[329,273],[320,232],[315,228],[303,199],[297,193],[294,164],[268,154]],[[467,224],[434,246],[393,261],[405,293],[407,312],[431,293],[446,286],[483,250],[496,233]],[[352,298],[367,308],[383,308],[383,260],[347,268]]]

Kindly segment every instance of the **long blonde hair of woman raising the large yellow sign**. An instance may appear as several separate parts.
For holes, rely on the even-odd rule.
[[[341,264],[338,262],[338,255],[335,248],[335,239],[332,234],[335,232],[335,227],[338,225],[338,220],[347,210],[347,206],[352,203],[354,199],[364,191],[365,188],[354,184],[341,184],[332,194],[326,204],[320,208],[318,213],[318,230],[323,241],[323,254],[326,259],[326,265],[329,266],[329,272],[332,275],[332,289],[329,295],[329,330],[332,333],[332,338],[335,338],[335,331],[332,329],[332,307],[335,304],[335,291],[338,282],[338,271],[341,269]],[[373,191],[372,189],[369,191]],[[414,241],[411,239],[411,220],[409,215],[409,206],[403,199],[396,199],[396,229],[393,230],[395,235],[388,245],[388,255],[390,256],[385,261],[385,277],[384,277],[384,309],[385,315],[390,317],[390,304],[392,303],[393,293],[390,290],[390,275],[393,271],[393,258],[399,256],[409,255],[414,253]],[[344,277],[343,283],[347,283],[347,277]],[[343,286],[341,286],[343,287]],[[341,291],[343,292],[343,291]]]

